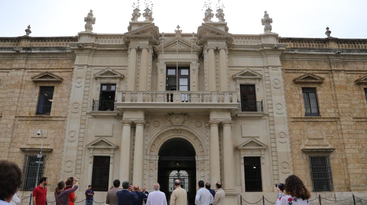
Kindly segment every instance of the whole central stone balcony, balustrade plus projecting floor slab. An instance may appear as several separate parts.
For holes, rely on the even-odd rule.
[[[145,109],[150,113],[226,109],[236,113],[237,92],[231,91],[117,91],[116,110]]]

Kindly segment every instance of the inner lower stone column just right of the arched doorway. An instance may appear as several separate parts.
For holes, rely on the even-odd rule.
[[[210,124],[210,183],[216,183],[221,179],[219,164],[219,133],[217,121],[209,121]],[[233,169],[233,166],[232,166]]]

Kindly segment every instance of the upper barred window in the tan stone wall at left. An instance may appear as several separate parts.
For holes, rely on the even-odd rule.
[[[54,86],[40,86],[36,115],[50,115]]]

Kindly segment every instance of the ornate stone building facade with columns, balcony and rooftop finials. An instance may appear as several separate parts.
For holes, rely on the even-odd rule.
[[[226,204],[275,201],[293,173],[315,190],[314,155],[331,164],[324,197],[366,196],[366,40],[280,38],[267,12],[263,34],[231,34],[210,8],[196,33],[164,34],[144,11],[123,34],[92,32],[90,11],[76,37],[0,38],[1,158],[27,172],[42,129],[49,201],[68,176],[97,202],[114,179],[159,182],[169,199],[177,178],[189,204],[199,180],[221,181]],[[48,116],[37,114],[40,86],[54,87]],[[316,88],[319,116],[302,88]]]

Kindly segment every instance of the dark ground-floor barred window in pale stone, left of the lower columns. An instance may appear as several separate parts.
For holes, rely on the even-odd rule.
[[[92,171],[92,187],[94,191],[108,191],[110,173],[110,157],[94,156]]]

